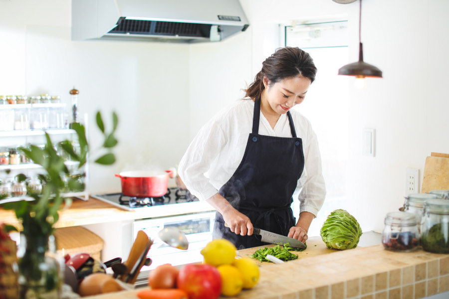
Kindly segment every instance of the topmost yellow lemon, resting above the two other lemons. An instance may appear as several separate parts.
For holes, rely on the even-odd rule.
[[[214,239],[201,250],[201,254],[204,257],[205,264],[217,267],[232,264],[236,250],[237,248],[230,241],[226,239]]]

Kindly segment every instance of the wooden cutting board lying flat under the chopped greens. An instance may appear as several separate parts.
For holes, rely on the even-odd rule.
[[[323,242],[323,240],[319,236],[310,237],[307,240],[306,244],[307,244],[306,250],[292,251],[292,253],[298,255],[298,259],[302,259],[302,258],[306,258],[306,257],[313,257],[313,256],[317,256],[317,255],[328,254],[328,253],[333,253],[333,252],[339,251],[339,250],[327,248],[326,244]],[[275,245],[270,244],[270,245],[266,245],[266,246],[241,249],[238,251],[238,254],[241,257],[250,257],[257,249],[264,248],[264,247],[270,248],[273,246],[275,246]],[[256,259],[252,259],[252,260],[255,261],[257,264],[259,264],[260,266],[273,264],[271,262],[260,262],[259,260],[256,260]],[[287,261],[287,263],[288,263],[288,261]]]

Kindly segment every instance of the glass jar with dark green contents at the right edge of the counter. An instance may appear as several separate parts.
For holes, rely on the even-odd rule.
[[[424,206],[421,242],[425,251],[449,253],[449,201],[431,199]]]

